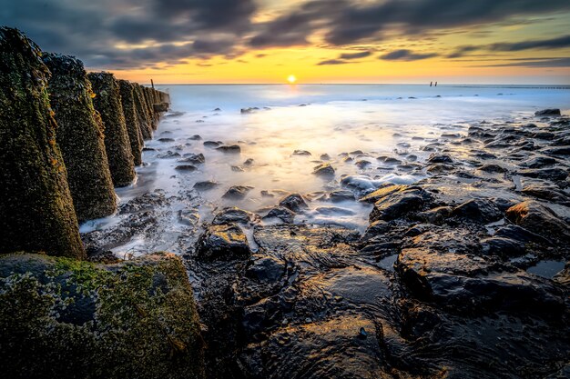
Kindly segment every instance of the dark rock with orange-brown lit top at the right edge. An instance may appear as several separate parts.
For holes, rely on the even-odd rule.
[[[561,220],[550,208],[534,200],[516,204],[506,211],[514,224],[537,234],[560,241],[570,241],[570,225]]]

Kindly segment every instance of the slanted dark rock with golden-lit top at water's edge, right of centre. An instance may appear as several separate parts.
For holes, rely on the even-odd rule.
[[[431,195],[421,188],[402,188],[391,194],[387,194],[374,203],[374,209],[370,214],[370,221],[391,221],[397,218],[405,218],[412,212],[419,211],[431,198]]]

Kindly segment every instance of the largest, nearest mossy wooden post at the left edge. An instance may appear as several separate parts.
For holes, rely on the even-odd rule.
[[[85,258],[39,47],[0,27],[0,253]]]

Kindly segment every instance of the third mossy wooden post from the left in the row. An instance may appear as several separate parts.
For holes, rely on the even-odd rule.
[[[110,73],[87,74],[95,98],[93,105],[101,114],[105,125],[105,149],[116,187],[130,185],[135,179],[135,163],[121,106],[117,80]]]

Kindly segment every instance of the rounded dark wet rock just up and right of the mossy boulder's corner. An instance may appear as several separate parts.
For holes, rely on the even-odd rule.
[[[196,251],[202,260],[229,261],[250,254],[246,234],[236,224],[210,226],[200,235]]]

